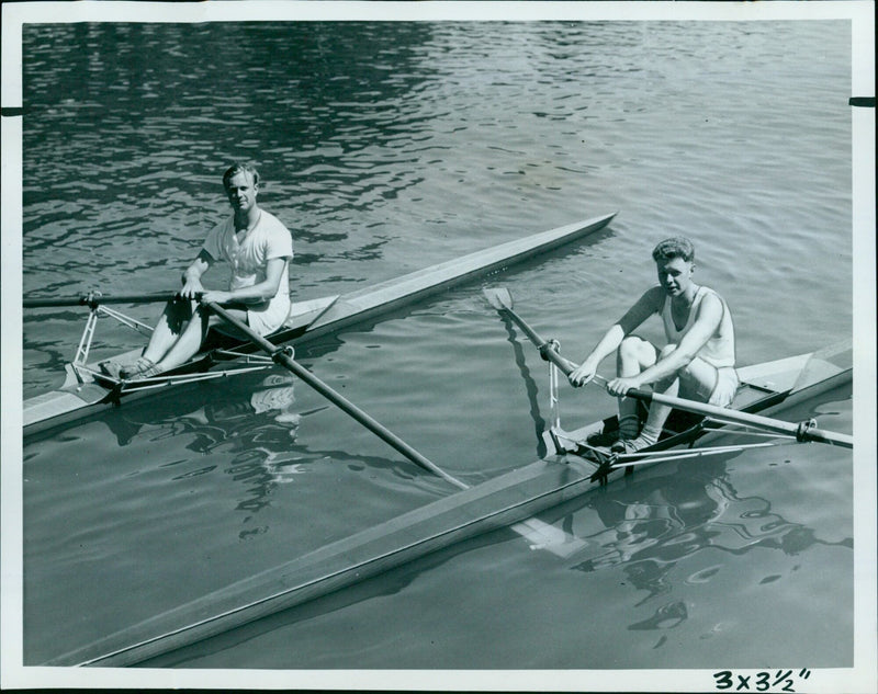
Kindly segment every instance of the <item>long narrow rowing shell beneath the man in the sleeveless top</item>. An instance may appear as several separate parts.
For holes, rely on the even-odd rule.
[[[741,386],[732,409],[770,414],[851,384],[849,352],[831,360],[817,354],[740,368]],[[808,378],[803,380],[804,372]],[[584,441],[610,420],[594,422],[567,435]],[[669,448],[696,440],[709,443],[717,435],[706,434],[699,423],[683,428],[660,443]],[[606,480],[595,480],[598,469],[590,460],[558,450],[545,459],[327,545],[44,664],[122,667],[143,662],[529,519],[624,474],[616,468]]]

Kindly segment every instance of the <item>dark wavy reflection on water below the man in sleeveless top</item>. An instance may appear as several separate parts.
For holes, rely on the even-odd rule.
[[[639,479],[635,473],[612,493],[600,490],[590,494],[583,508],[595,511],[604,528],[587,537],[593,556],[578,558],[570,568],[592,573],[621,566],[631,585],[646,593],[637,603],[643,605],[674,592],[677,587],[672,571],[696,555],[700,559],[703,550],[744,555],[754,549],[776,549],[792,556],[814,545],[853,549],[851,537],[820,539],[812,528],[773,512],[769,500],[740,497],[727,470],[728,463],[739,455],[669,466],[667,474],[645,479]],[[572,517],[564,522],[570,526]],[[706,583],[721,569],[722,565],[700,568],[683,581]],[[672,628],[686,616],[685,603],[672,601],[629,628]]]

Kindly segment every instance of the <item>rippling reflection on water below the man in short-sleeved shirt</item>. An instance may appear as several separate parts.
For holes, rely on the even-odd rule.
[[[254,378],[247,375],[222,384],[210,382],[180,387],[177,398],[158,398],[149,403],[130,402],[101,417],[116,436],[122,455],[125,448],[154,442],[167,442],[172,452],[190,451],[191,456],[160,463],[171,482],[189,480],[212,473],[228,476],[243,489],[235,505],[245,512],[243,523],[272,504],[281,485],[294,482],[311,466],[327,460],[345,460],[352,471],[396,469],[398,460],[361,455],[344,448],[314,448],[297,443],[300,428],[312,422],[309,436],[319,430],[311,420],[327,410],[318,405],[304,411],[296,406],[296,379],[286,373]],[[234,384],[234,385],[233,385]],[[340,442],[344,444],[344,441]],[[132,455],[128,453],[127,455]],[[402,463],[402,474],[412,470]],[[260,526],[259,533],[268,532]],[[240,537],[251,535],[243,531]]]

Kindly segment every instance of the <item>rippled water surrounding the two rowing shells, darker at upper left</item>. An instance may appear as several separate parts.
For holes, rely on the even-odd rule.
[[[728,298],[741,363],[810,351],[852,326],[849,31],[27,26],[24,292],[175,286],[226,214],[224,168],[252,159],[293,231],[295,298],[618,209],[494,280],[569,356],[653,282],[649,252],[674,234]],[[82,320],[25,315],[25,397],[57,385]],[[100,337],[105,354],[139,344]],[[300,356],[471,483],[540,453],[543,364],[479,286]],[[571,425],[612,407],[562,402]],[[849,391],[811,407],[851,430]],[[449,491],[280,376],[131,403],[24,455],[30,662]],[[849,667],[852,479],[851,455],[820,446],[662,466],[550,513],[587,539],[572,558],[495,533],[156,664]]]

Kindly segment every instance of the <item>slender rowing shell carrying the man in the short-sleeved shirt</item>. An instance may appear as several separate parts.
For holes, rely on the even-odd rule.
[[[284,326],[271,335],[271,341],[297,345],[336,332],[581,239],[603,229],[615,216],[616,213],[612,213],[534,234],[349,294],[296,303]],[[67,378],[58,390],[24,401],[24,435],[88,417],[117,403],[122,397],[143,397],[164,390],[165,386],[185,383],[192,374],[209,372],[217,364],[246,362],[254,359],[249,355],[256,351],[257,348],[249,342],[234,343],[230,349],[201,353],[159,378],[131,383],[102,376],[97,363],[78,363],[78,360],[74,360],[74,363],[66,365]],[[122,364],[133,363],[139,354],[140,350],[132,350],[114,360]]]

